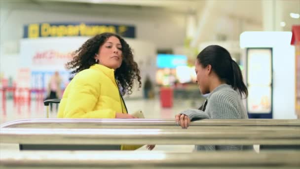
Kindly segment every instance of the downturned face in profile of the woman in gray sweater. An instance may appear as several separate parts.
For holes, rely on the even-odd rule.
[[[195,72],[197,75],[197,84],[198,88],[202,94],[209,93],[209,71],[207,68],[203,68],[202,65],[199,63],[198,59],[195,62]]]

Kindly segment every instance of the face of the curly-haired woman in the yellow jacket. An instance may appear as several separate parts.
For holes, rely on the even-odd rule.
[[[122,64],[122,45],[118,38],[112,36],[99,47],[95,59],[98,63],[108,68],[116,70]]]

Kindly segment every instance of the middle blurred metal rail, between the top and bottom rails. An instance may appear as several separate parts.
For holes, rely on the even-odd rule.
[[[0,143],[300,145],[300,129],[221,127],[215,129],[1,128]]]

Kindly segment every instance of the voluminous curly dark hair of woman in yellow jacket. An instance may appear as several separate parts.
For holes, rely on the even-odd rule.
[[[116,37],[122,45],[122,64],[115,70],[114,77],[116,81],[122,86],[122,94],[131,94],[134,81],[139,82],[139,87],[142,86],[141,76],[138,64],[133,60],[133,53],[129,44],[120,36],[112,33],[103,33],[87,40],[72,53],[73,59],[66,64],[67,69],[73,69],[71,72],[73,76],[90,66],[96,64],[95,53],[98,53],[99,47],[102,46],[108,38]]]

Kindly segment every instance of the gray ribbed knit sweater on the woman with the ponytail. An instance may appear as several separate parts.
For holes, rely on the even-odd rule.
[[[188,109],[180,114],[185,114],[191,121],[200,119],[248,119],[246,109],[240,94],[228,84],[216,87],[207,98],[205,111]],[[252,149],[252,146],[242,145],[195,145],[199,150],[243,150]]]

